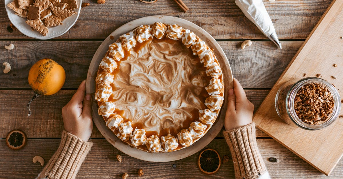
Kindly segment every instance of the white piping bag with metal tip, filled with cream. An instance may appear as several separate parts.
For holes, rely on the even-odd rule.
[[[262,0],[236,0],[236,4],[243,11],[244,15],[253,22],[280,49],[281,44],[277,38],[275,28],[270,19]]]

